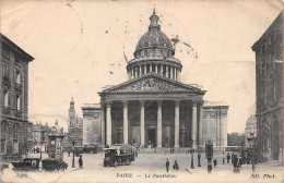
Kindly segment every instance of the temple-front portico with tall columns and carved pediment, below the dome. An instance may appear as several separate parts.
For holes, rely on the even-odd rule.
[[[105,89],[99,95],[106,144],[189,147],[192,139],[198,146],[204,93],[156,74]]]

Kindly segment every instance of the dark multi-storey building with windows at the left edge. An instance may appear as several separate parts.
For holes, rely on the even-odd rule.
[[[34,60],[19,46],[1,38],[1,158],[16,159],[31,146],[27,118],[28,63]]]

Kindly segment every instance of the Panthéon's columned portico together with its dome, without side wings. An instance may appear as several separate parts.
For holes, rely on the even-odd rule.
[[[205,90],[180,83],[181,62],[155,11],[127,65],[129,80],[98,93],[103,144],[190,147],[200,141]],[[105,132],[105,133],[104,133]]]

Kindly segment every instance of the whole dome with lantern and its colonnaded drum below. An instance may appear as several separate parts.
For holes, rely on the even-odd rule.
[[[182,64],[174,57],[173,45],[161,30],[155,9],[150,22],[149,30],[138,41],[134,58],[127,64],[128,78],[156,74],[179,81]]]

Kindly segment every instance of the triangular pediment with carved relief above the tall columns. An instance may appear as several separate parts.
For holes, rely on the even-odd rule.
[[[159,75],[144,75],[105,89],[103,93],[153,93],[153,91],[201,91],[200,88],[182,84]]]

